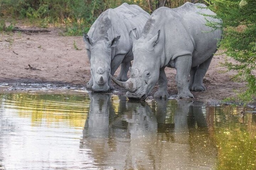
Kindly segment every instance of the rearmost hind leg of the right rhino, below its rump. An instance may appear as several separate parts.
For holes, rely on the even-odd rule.
[[[203,85],[203,77],[205,76],[206,71],[208,70],[213,55],[208,58],[205,62],[198,66],[198,69],[194,76],[194,83],[191,87],[191,91],[205,91],[206,88]]]

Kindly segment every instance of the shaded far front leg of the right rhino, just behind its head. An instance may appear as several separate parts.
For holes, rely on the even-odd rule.
[[[159,72],[159,79],[158,79],[158,91],[155,92],[155,98],[168,98],[170,95],[167,91],[167,77],[165,74],[165,68],[161,68]]]

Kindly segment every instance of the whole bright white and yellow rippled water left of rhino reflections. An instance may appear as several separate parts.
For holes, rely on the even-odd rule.
[[[78,154],[90,101],[84,95],[65,96],[70,100],[60,94],[2,95],[2,169],[86,168],[84,159],[93,161]]]

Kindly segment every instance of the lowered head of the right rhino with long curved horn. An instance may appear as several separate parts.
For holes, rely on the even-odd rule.
[[[158,43],[159,33],[160,31],[152,38],[141,37],[135,41],[133,66],[129,68],[130,79],[120,82],[111,76],[117,85],[127,90],[126,96],[129,99],[145,100],[158,81],[160,60],[155,45]]]

